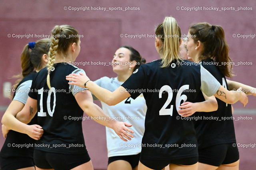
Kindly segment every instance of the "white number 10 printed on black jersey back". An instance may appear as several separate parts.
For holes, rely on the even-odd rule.
[[[43,111],[43,92],[44,92],[44,88],[41,88],[40,90],[38,90],[38,94],[40,94],[40,111],[38,111],[38,116],[40,117],[45,117],[46,116],[46,112]],[[51,110],[51,94],[53,93],[54,99],[53,99],[53,106],[52,106],[52,110]],[[49,92],[48,92],[48,96],[47,96],[47,111],[48,114],[52,117],[53,113],[54,113],[54,109],[56,106],[56,92],[55,92],[55,88],[52,87]]]

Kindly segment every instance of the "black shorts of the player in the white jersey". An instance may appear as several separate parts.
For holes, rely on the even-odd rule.
[[[129,162],[132,166],[132,169],[135,168],[139,164],[140,153],[135,155],[125,155],[125,156],[112,156],[108,158],[108,164],[114,162],[116,160],[125,160]]]

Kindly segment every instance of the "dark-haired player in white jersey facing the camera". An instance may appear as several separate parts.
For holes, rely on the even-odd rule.
[[[120,47],[112,59],[113,71],[117,74],[115,78],[102,77],[94,81],[98,86],[114,92],[119,86],[132,75],[132,72],[146,62],[140,53],[130,46]],[[141,92],[142,93],[142,92]],[[93,95],[94,99],[95,96]],[[127,98],[115,106],[108,106],[101,102],[103,111],[110,117],[118,118],[118,121],[126,121],[132,124],[134,131],[132,141],[123,143],[116,133],[106,127],[108,148],[108,170],[135,170],[138,168],[141,152],[141,140],[144,134],[144,123],[146,115],[146,101],[143,95],[133,100]]]

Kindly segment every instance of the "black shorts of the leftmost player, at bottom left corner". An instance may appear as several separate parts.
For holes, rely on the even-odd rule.
[[[26,157],[10,157],[3,158],[0,157],[0,167],[1,170],[17,170],[22,168],[34,167],[33,158]]]

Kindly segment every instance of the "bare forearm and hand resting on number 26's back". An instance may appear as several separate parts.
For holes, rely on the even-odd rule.
[[[193,115],[195,112],[210,112],[216,111],[218,109],[218,103],[214,96],[207,97],[204,93],[204,102],[184,102],[179,106],[178,113],[183,117],[188,117]]]

